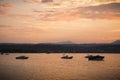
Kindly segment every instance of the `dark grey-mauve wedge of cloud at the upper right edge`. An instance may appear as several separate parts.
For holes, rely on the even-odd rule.
[[[79,7],[73,15],[91,19],[120,19],[120,3],[103,4],[99,6]]]

